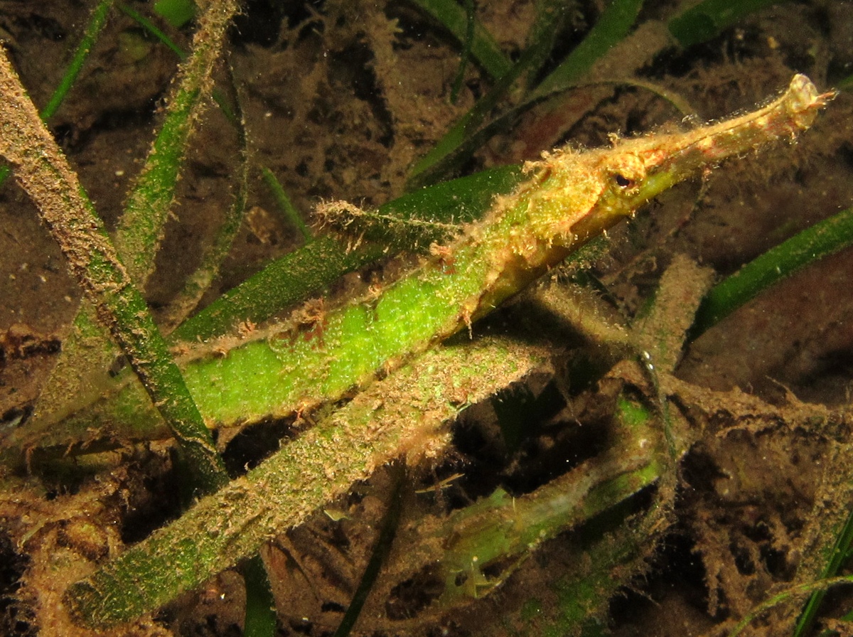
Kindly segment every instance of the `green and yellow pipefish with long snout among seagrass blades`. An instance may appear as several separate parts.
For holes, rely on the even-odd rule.
[[[682,133],[614,141],[612,148],[543,153],[527,178],[497,196],[479,223],[419,269],[308,321],[274,326],[249,340],[225,339],[182,363],[187,385],[209,426],[291,414],[335,400],[379,371],[396,368],[472,321],[560,263],[657,194],[722,159],[752,152],[811,125],[831,94],[804,75],[764,107]],[[192,358],[192,356],[197,356]],[[72,416],[110,430],[156,422],[137,384]],[[125,421],[126,424],[126,421]],[[127,429],[122,429],[127,437]],[[150,432],[150,425],[148,432]]]

